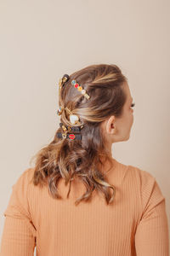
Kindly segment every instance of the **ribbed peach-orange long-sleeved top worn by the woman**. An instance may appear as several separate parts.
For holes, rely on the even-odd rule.
[[[105,170],[106,170],[105,166]],[[30,181],[34,169],[23,172],[3,213],[5,222],[0,256],[169,256],[169,230],[165,197],[149,172],[113,159],[106,172],[116,188],[113,204],[103,194],[75,206],[86,191],[77,179],[59,180],[55,200]],[[112,190],[111,190],[112,191]]]

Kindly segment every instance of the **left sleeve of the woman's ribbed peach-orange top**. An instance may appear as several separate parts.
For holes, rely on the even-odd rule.
[[[29,169],[12,186],[8,207],[3,215],[3,236],[0,256],[33,256],[36,246],[36,228],[31,221],[27,197]]]

